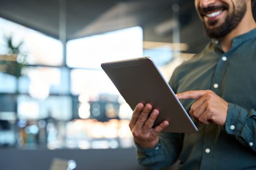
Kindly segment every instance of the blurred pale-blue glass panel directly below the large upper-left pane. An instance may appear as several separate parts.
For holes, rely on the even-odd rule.
[[[50,93],[67,94],[69,92],[69,71],[67,68],[26,67],[26,76],[18,81],[19,91],[29,93],[37,99],[46,99]]]

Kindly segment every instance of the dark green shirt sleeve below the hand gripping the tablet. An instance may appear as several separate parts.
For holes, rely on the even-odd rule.
[[[138,162],[154,169],[170,166],[177,161],[182,149],[182,142],[183,134],[161,133],[159,143],[154,148],[142,148],[136,144]]]

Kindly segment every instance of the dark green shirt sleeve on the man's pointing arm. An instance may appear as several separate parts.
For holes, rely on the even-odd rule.
[[[256,111],[244,109],[236,104],[229,103],[226,132],[236,135],[236,138],[256,152]]]

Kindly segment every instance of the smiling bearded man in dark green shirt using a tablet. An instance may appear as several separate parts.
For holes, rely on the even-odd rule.
[[[172,120],[152,128],[159,111],[139,103],[130,128],[141,165],[159,169],[179,159],[179,169],[256,169],[253,1],[195,0],[212,42],[181,64],[169,83],[199,131],[161,133]]]

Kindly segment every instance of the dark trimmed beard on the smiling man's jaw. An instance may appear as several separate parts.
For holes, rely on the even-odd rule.
[[[204,32],[206,36],[208,36],[209,38],[219,39],[219,38],[225,37],[228,33],[230,33],[233,29],[235,29],[245,15],[246,8],[247,8],[246,2],[245,1],[239,2],[239,5],[237,7],[238,7],[237,9],[235,8],[233,9],[233,12],[231,14],[227,15],[225,21],[218,28],[208,29],[204,22]],[[218,23],[218,20],[212,21],[211,23],[209,23],[209,25],[214,26],[217,23]]]

